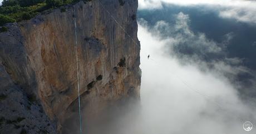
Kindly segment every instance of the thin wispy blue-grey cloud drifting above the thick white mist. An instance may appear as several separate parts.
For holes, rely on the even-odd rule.
[[[159,20],[148,30],[165,42],[164,51],[167,54],[179,58],[182,63],[198,65],[199,68],[208,71],[210,68],[230,78],[249,73],[249,69],[242,66],[243,59],[225,57],[225,48],[233,38],[233,33],[226,34],[223,42],[216,43],[206,38],[204,33],[194,33],[189,22],[188,14],[180,12],[175,15],[174,24]],[[140,24],[149,27],[144,19],[140,19]]]

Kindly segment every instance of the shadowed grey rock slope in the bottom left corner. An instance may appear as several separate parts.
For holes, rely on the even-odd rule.
[[[34,96],[24,94],[0,64],[0,133],[56,133]]]

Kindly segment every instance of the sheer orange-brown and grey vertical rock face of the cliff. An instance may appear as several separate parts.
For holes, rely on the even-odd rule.
[[[139,98],[140,89],[137,1],[81,1],[65,8],[8,24],[8,32],[0,33],[0,68],[9,83],[28,100],[35,96],[59,129],[77,107],[76,41],[81,103],[91,107],[88,113]],[[1,92],[9,88],[0,82]]]

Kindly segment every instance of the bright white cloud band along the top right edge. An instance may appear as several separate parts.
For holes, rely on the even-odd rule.
[[[210,6],[219,11],[219,16],[239,22],[256,23],[256,2],[245,0],[139,0],[139,9],[162,8],[164,3],[178,6]]]

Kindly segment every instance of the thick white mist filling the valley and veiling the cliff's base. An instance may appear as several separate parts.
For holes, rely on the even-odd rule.
[[[163,22],[159,23],[161,28],[167,26]],[[175,38],[175,35],[163,37],[159,31],[159,23],[149,27],[145,20],[139,21],[142,69],[140,101],[130,100],[119,106],[112,106],[96,120],[88,120],[88,117],[83,116],[85,133],[255,133],[254,129],[250,132],[243,130],[245,121],[255,123],[254,108],[240,100],[237,85],[223,75],[227,71],[223,69],[224,66],[230,68],[228,71],[240,70],[225,62],[213,63],[223,66],[222,68],[209,68],[203,61],[200,64],[200,59],[195,60],[194,56],[186,57],[186,60],[191,59],[195,63],[183,64],[186,60],[175,56],[180,54],[176,54],[171,49],[174,47],[170,46],[179,42],[180,38]],[[179,25],[179,21],[176,24]],[[189,25],[183,25],[189,28]],[[189,33],[193,34],[191,31]],[[200,40],[208,42],[206,37]],[[173,56],[170,53],[174,53]],[[78,128],[70,132],[77,130]]]

